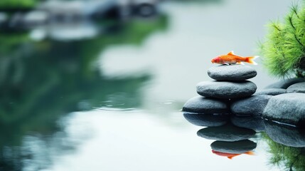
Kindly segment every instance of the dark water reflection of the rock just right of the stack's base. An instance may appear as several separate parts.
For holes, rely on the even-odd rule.
[[[257,132],[264,131],[264,120],[261,116],[231,116],[231,123],[240,128],[248,128]]]

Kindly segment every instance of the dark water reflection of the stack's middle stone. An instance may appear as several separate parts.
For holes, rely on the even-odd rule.
[[[197,135],[208,140],[238,141],[253,138],[255,133],[254,130],[227,124],[219,127],[203,128],[198,130]]]

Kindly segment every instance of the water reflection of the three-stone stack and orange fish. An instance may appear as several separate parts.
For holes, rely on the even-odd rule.
[[[231,115],[183,113],[184,118],[193,125],[204,126],[198,130],[197,135],[216,140],[210,146],[215,155],[232,159],[237,155],[253,155],[257,143],[250,138],[255,138],[255,130],[240,128],[230,122]]]

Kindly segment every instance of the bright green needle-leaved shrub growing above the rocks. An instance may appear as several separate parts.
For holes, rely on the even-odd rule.
[[[274,76],[305,77],[305,6],[293,4],[284,22],[272,21],[260,43],[264,66]]]

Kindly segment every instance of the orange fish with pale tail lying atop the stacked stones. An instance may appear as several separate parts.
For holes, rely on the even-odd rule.
[[[244,65],[244,63],[242,62],[246,62],[246,63],[251,63],[253,65],[257,65],[257,63],[253,60],[258,57],[259,56],[248,56],[248,57],[237,56],[233,53],[233,51],[230,51],[227,55],[217,56],[213,58],[211,62],[225,64],[225,65],[230,65],[235,63]]]

